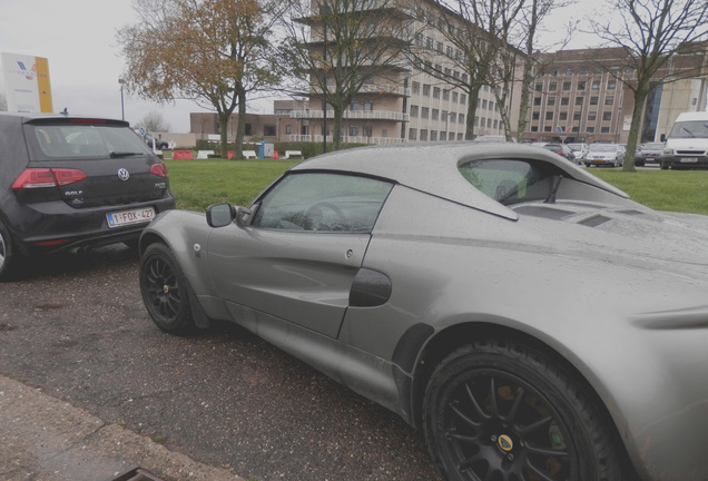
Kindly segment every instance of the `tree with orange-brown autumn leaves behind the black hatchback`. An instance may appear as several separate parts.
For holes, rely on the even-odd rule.
[[[134,0],[140,22],[118,35],[128,87],[142,98],[187,98],[216,110],[222,151],[238,107],[235,158],[243,157],[247,95],[278,80],[269,41],[271,0]]]

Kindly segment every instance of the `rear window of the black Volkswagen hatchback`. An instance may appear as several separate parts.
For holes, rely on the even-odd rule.
[[[129,128],[110,125],[32,125],[35,138],[48,158],[109,157],[146,154],[141,139]]]

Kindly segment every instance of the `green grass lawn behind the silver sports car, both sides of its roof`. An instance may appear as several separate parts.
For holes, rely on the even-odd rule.
[[[165,160],[177,208],[204,212],[210,204],[248,205],[281,174],[301,160]],[[657,210],[708,215],[708,171],[590,168],[590,174]]]

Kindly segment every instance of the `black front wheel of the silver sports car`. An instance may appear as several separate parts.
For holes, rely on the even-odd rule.
[[[150,318],[163,331],[183,335],[196,330],[189,284],[165,244],[150,244],[140,256],[140,294]]]

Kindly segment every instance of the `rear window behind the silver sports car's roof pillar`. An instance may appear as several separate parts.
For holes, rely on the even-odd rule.
[[[548,200],[562,170],[532,160],[472,160],[460,166],[460,173],[486,196],[510,205]]]

